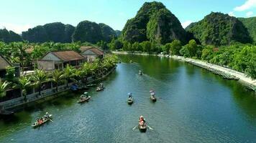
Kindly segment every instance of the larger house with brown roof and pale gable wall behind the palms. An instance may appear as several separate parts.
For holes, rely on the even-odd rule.
[[[37,61],[37,68],[45,71],[63,69],[68,64],[78,68],[86,58],[76,51],[49,51]]]

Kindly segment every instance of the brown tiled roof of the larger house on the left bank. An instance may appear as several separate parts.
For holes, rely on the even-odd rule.
[[[63,61],[85,59],[81,54],[78,54],[76,51],[51,51],[51,53]]]

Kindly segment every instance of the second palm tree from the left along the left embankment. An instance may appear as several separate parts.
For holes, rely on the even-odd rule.
[[[27,102],[27,88],[29,88],[30,86],[30,77],[20,77],[18,84],[15,86],[22,90],[22,97],[24,97],[25,102]]]

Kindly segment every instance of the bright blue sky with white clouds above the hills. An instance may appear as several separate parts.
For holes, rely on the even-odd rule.
[[[151,0],[147,0],[151,1]],[[185,28],[211,11],[236,17],[256,16],[256,0],[159,0]],[[122,30],[146,0],[0,0],[0,29],[21,34],[37,25],[88,20]]]

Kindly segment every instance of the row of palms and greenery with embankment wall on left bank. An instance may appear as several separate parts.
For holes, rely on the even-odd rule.
[[[99,82],[111,74],[116,69],[117,63],[118,59],[115,55],[106,54],[103,59],[85,62],[79,68],[68,65],[62,70],[36,69],[33,74],[12,77],[11,80],[2,81],[0,78],[0,99],[6,97],[9,89],[18,89],[21,92],[20,97],[0,102],[0,109],[14,109],[46,97],[58,97],[58,94],[69,90],[73,84],[86,88],[87,84]]]

